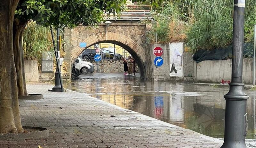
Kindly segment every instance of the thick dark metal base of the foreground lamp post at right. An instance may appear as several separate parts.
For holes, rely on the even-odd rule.
[[[246,101],[249,98],[244,93],[244,83],[231,82],[226,99],[225,138],[220,148],[247,148]]]

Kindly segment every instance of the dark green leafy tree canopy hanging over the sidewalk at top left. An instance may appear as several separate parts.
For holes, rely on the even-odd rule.
[[[15,18],[44,26],[95,25],[104,13],[119,13],[126,0],[20,0]]]

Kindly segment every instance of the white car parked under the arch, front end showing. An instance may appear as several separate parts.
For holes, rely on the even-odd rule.
[[[94,72],[94,66],[92,65],[92,63],[83,61],[79,57],[76,60],[76,69],[79,69],[81,74],[88,74]]]

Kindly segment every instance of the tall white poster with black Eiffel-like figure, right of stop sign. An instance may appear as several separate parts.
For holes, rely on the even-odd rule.
[[[170,43],[170,76],[184,77],[183,43]]]

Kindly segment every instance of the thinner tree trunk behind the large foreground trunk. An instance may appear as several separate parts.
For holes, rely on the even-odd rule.
[[[19,19],[14,19],[13,22],[13,53],[14,53],[14,64],[17,73],[17,85],[18,95],[28,95],[25,78],[25,66],[24,66],[24,53],[23,53],[23,32],[27,22],[21,23]]]

